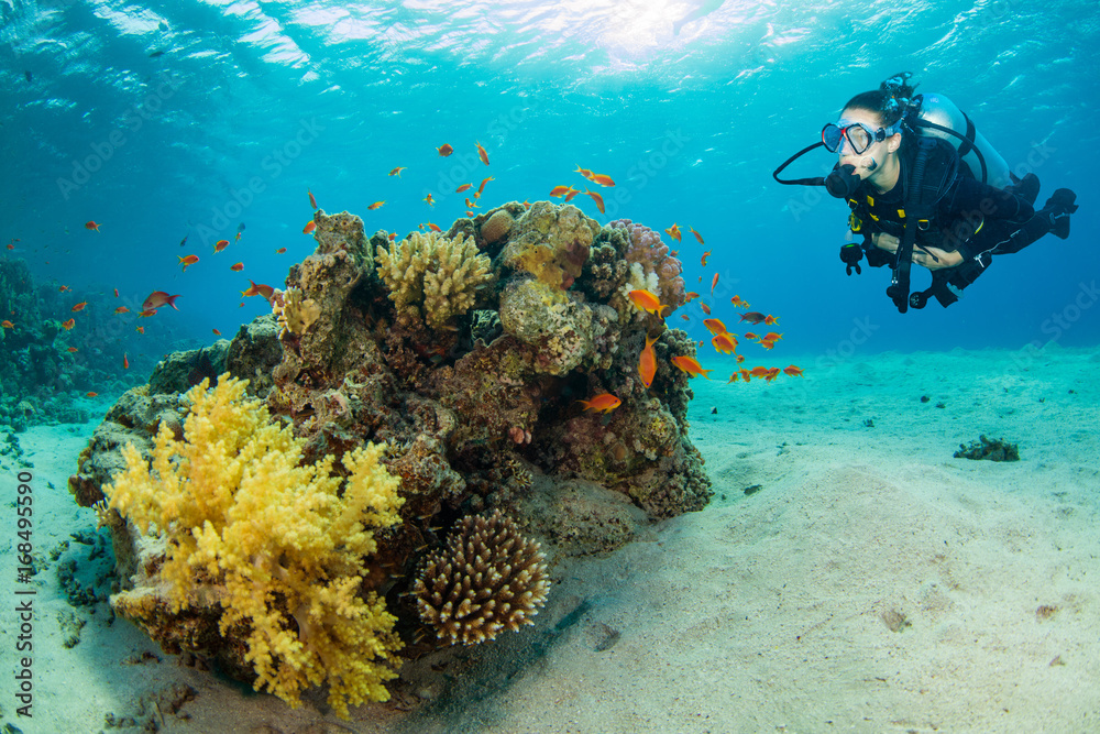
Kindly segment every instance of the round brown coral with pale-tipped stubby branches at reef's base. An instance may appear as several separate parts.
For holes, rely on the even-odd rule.
[[[420,618],[450,644],[474,645],[534,624],[550,581],[539,544],[497,510],[468,516],[413,587]]]

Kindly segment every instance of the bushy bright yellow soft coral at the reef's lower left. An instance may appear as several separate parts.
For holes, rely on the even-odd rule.
[[[346,480],[332,475],[332,457],[301,465],[304,441],[246,386],[227,374],[193,388],[184,440],[162,426],[152,471],[128,445],[127,468],[103,491],[142,533],[166,536],[160,576],[174,611],[217,603],[223,636],[250,631],[256,690],[297,705],[327,682],[346,717],[349,704],[388,699],[383,682],[396,676],[396,618],[359,589],[376,548],[370,528],[397,522],[400,482],[374,443],[344,456]]]

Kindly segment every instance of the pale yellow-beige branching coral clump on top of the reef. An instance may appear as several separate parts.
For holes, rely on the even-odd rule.
[[[419,314],[433,329],[470,310],[477,288],[493,280],[488,256],[469,237],[413,232],[403,242],[378,245],[375,262],[397,311]]]

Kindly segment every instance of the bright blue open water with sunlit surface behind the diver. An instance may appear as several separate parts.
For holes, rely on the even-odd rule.
[[[738,294],[780,317],[793,353],[1100,341],[1091,0],[0,0],[0,241],[19,239],[0,256],[109,305],[118,288],[132,310],[151,291],[182,294],[179,313],[145,319],[165,343],[231,336],[266,310],[239,292],[248,278],[280,285],[311,251],[307,189],[369,232],[404,235],[461,217],[458,184],[493,176],[484,210],[580,186],[578,165],[617,186],[602,190],[606,216],[584,195],[573,204],[601,222],[678,222],[689,288],[706,294],[718,273],[715,315],[732,316]],[[998,258],[960,303],[905,315],[886,269],[845,276],[846,206],[771,178],[848,98],[902,70],[1034,171],[1040,204],[1064,186],[1081,204],[1068,241]],[[437,154],[443,143],[452,156]],[[788,173],[832,162],[818,150]],[[926,278],[914,267],[915,287]],[[47,316],[68,318],[64,297]],[[682,313],[692,322],[671,322],[703,338],[697,303]],[[110,338],[141,349],[130,328]]]

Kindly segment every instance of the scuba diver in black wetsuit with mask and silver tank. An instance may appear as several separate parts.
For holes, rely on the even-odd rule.
[[[848,275],[866,255],[890,265],[887,295],[904,314],[935,297],[945,308],[986,272],[993,255],[1019,252],[1047,232],[1069,237],[1077,195],[1054,191],[1035,211],[1038,177],[1016,178],[970,119],[943,95],[915,95],[910,73],[851,98],[822,142],[788,158],[772,176],[781,184],[825,186],[845,199],[848,223],[862,242],[840,248]],[[779,174],[817,146],[839,160],[824,178]],[[932,271],[932,285],[910,293],[910,267]]]

